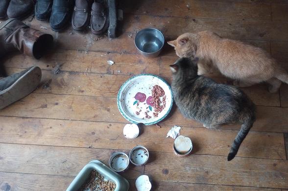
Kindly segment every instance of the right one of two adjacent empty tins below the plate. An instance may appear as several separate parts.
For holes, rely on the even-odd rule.
[[[136,166],[144,165],[149,159],[149,152],[143,146],[136,146],[130,150],[129,159]]]

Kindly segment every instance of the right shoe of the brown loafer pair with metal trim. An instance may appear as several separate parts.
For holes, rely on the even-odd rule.
[[[92,4],[91,31],[95,35],[102,34],[109,26],[109,19],[104,6],[99,2]]]

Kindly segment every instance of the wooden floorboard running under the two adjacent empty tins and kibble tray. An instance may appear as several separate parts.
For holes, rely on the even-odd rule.
[[[107,164],[114,151],[15,144],[0,144],[0,147],[0,171],[64,176],[75,176],[94,158]],[[149,156],[145,169],[131,166],[122,175],[134,180],[145,173],[155,181],[288,188],[288,160],[238,157],[228,163],[226,156],[180,158],[163,152],[149,152]]]

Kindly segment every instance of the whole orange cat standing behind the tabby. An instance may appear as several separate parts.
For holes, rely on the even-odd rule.
[[[271,93],[278,91],[281,81],[288,84],[286,70],[267,52],[253,45],[224,39],[210,31],[185,33],[168,44],[181,58],[198,57],[198,74],[215,67],[224,76],[235,79],[234,85],[245,87],[267,82]]]

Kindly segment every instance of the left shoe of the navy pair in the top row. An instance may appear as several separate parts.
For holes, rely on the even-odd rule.
[[[35,5],[35,17],[39,21],[49,19],[53,0],[37,0]]]

